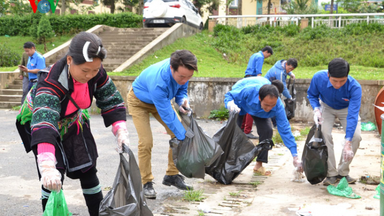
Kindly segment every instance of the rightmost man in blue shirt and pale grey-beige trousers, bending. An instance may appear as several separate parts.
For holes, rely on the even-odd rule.
[[[361,141],[361,86],[348,74],[348,62],[343,58],[335,58],[329,62],[328,71],[315,73],[307,92],[314,109],[314,121],[322,125],[322,133],[328,147],[328,173],[324,185],[334,185],[343,177],[346,177],[348,183],[356,182],[356,179],[348,174],[349,164]],[[332,128],[336,118],[340,120],[346,133],[343,154],[337,169],[332,140]]]

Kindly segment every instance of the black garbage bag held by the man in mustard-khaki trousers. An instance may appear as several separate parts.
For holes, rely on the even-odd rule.
[[[185,177],[204,179],[204,167],[215,162],[223,154],[223,150],[214,139],[204,133],[192,115],[180,116],[187,128],[183,141],[176,138],[169,141],[174,163]]]

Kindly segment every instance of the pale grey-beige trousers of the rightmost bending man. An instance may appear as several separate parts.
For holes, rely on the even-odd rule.
[[[325,103],[322,103],[322,105],[324,106],[322,111],[322,117],[324,119],[324,122],[322,124],[322,133],[323,133],[326,145],[328,147],[327,177],[333,177],[337,175],[348,176],[349,164],[352,162],[352,160],[349,162],[343,162],[343,156],[340,157],[340,162],[336,169],[336,161],[335,161],[335,154],[333,150],[333,140],[332,140],[332,134],[331,134],[333,124],[335,123],[336,118],[340,120],[340,123],[342,123],[343,129],[344,129],[344,132],[346,132],[348,107],[342,110],[335,110]],[[360,141],[361,141],[360,134],[361,134],[361,120],[359,116],[356,130],[352,138],[352,150],[354,155],[356,155],[357,148],[360,145]],[[337,143],[342,143],[342,140],[338,140]]]

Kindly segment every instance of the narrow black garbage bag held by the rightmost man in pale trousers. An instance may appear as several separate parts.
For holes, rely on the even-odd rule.
[[[303,150],[302,163],[307,180],[318,184],[327,177],[328,148],[322,134],[322,127],[314,124],[309,131]]]

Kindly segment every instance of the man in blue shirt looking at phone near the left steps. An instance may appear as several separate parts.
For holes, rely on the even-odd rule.
[[[24,51],[28,54],[27,67],[19,65],[18,68],[28,73],[29,85],[28,91],[31,90],[32,85],[37,81],[37,72],[46,68],[46,59],[36,52],[36,47],[33,42],[26,42],[24,44]]]

